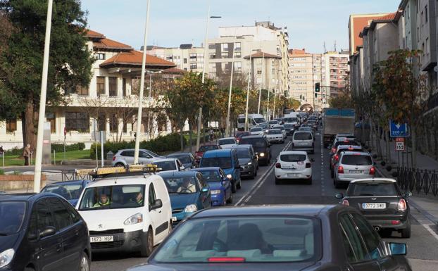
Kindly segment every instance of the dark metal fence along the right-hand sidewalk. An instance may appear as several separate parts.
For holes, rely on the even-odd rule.
[[[397,183],[405,191],[438,195],[438,171],[397,168]]]

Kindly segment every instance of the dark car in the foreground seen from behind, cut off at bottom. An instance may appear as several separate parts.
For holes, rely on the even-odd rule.
[[[358,210],[337,206],[213,208],[182,222],[145,265],[170,270],[411,270]]]

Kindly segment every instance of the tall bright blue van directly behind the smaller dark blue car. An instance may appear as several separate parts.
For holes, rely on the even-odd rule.
[[[199,168],[211,167],[219,167],[225,172],[227,178],[231,181],[233,193],[236,193],[237,189],[242,187],[239,159],[235,150],[216,150],[204,153]]]

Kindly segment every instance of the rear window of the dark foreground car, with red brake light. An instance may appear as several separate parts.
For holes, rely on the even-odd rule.
[[[304,262],[320,258],[320,222],[294,216],[220,217],[184,222],[160,246],[154,263]]]

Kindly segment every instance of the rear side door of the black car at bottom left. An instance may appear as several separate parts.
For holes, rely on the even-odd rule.
[[[61,199],[47,198],[46,202],[54,215],[56,228],[62,236],[63,270],[78,270],[84,241],[80,239],[80,225],[73,223],[72,215]]]

